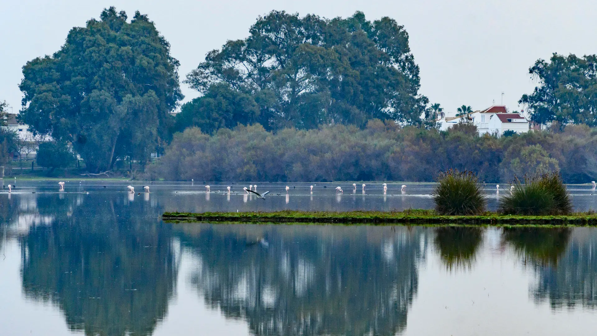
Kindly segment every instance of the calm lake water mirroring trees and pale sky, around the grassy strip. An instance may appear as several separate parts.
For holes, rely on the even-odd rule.
[[[5,179],[4,184],[14,181]],[[570,335],[597,228],[169,224],[164,211],[432,207],[433,184],[20,182],[0,191],[1,335]],[[232,187],[233,193],[218,193]],[[324,188],[327,187],[327,188]],[[296,188],[294,188],[296,187]],[[504,185],[503,187],[508,187]],[[568,187],[597,209],[589,185]],[[488,186],[490,207],[497,204]],[[504,191],[500,191],[501,194]],[[592,195],[595,193],[595,195]],[[279,195],[276,195],[279,194]]]

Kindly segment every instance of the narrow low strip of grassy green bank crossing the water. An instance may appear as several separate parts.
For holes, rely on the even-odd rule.
[[[435,210],[401,212],[165,212],[162,219],[171,222],[279,222],[338,224],[479,224],[479,225],[597,225],[597,213],[571,215],[522,216],[486,212],[471,216],[442,216]]]

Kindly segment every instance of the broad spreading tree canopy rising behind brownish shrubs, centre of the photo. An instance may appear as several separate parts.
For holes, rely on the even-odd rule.
[[[250,35],[213,50],[186,83],[204,96],[184,106],[179,128],[261,123],[312,129],[371,118],[421,124],[427,98],[408,34],[395,20],[299,17],[272,11]],[[205,129],[204,129],[205,127]]]

